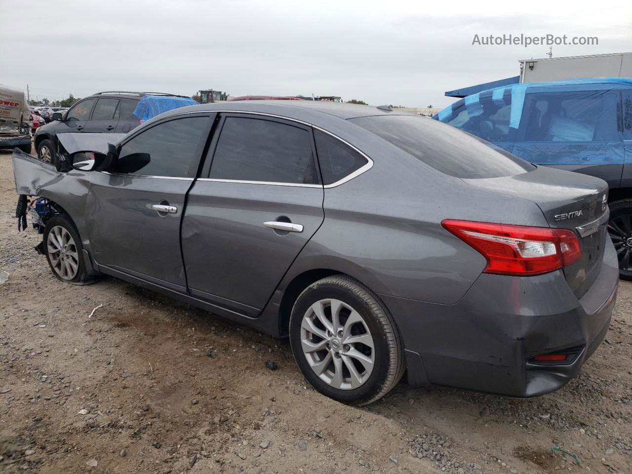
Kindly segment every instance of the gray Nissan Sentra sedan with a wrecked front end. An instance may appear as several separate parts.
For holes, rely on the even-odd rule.
[[[65,135],[57,169],[13,155],[56,277],[119,277],[289,336],[344,403],[404,371],[545,394],[608,330],[619,272],[600,179],[388,107],[228,102]]]

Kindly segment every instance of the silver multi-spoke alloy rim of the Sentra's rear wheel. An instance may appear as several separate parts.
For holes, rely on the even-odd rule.
[[[315,374],[336,389],[356,389],[373,372],[371,332],[360,313],[343,301],[313,303],[301,322],[301,346]]]

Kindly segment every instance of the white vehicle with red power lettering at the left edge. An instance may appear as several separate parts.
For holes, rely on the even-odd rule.
[[[0,85],[0,149],[31,151],[30,111],[24,91]]]

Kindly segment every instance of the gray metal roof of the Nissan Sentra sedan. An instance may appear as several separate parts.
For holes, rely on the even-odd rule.
[[[386,115],[415,116],[415,114],[392,109],[387,110],[385,108],[378,108],[374,106],[360,106],[357,104],[343,104],[340,102],[325,102],[320,100],[234,100],[231,102],[216,102],[213,104],[181,107],[180,109],[165,112],[159,117],[165,118],[168,116],[196,111],[258,112],[293,118],[308,123],[322,120],[324,116],[344,120],[358,117]]]

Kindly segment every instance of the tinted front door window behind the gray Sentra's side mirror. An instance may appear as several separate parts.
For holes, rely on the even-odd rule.
[[[209,119],[189,117],[152,126],[121,147],[115,173],[193,178],[199,163],[198,149]],[[127,171],[135,164],[142,165]]]

